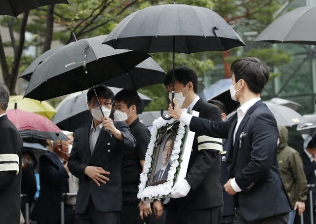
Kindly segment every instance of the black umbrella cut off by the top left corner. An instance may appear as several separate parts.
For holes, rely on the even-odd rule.
[[[68,0],[1,0],[0,15],[17,17],[33,8],[58,3],[70,4]]]

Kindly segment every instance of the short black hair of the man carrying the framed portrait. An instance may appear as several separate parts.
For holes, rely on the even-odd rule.
[[[177,66],[174,68],[174,80],[187,85],[193,83],[193,91],[197,93],[197,73],[187,66]],[[163,84],[167,87],[172,83],[172,69],[163,78]]]

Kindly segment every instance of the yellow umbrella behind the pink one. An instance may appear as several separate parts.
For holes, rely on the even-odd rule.
[[[51,119],[56,113],[56,110],[46,101],[40,102],[38,100],[33,100],[30,98],[23,99],[23,96],[21,95],[10,96],[7,110],[14,109],[15,103],[17,109],[21,111],[37,113],[44,117],[47,117],[48,119]]]

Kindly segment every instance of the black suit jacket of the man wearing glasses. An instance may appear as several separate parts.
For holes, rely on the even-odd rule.
[[[76,201],[76,213],[85,212],[91,197],[99,212],[115,212],[122,209],[121,162],[124,148],[135,147],[135,140],[125,122],[114,122],[122,133],[123,141],[119,142],[114,136],[102,128],[93,153],[89,146],[91,122],[77,129],[74,133],[74,144],[68,161],[70,172],[79,178],[79,190]],[[84,174],[87,166],[98,166],[111,174],[106,184],[98,187]]]

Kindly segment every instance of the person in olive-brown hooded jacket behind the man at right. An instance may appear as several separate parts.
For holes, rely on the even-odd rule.
[[[300,223],[300,215],[305,211],[307,199],[307,180],[304,174],[302,158],[299,152],[287,145],[288,130],[278,125],[277,163],[280,176],[290,199],[293,210],[289,214],[288,224]],[[297,214],[297,216],[296,216]]]

